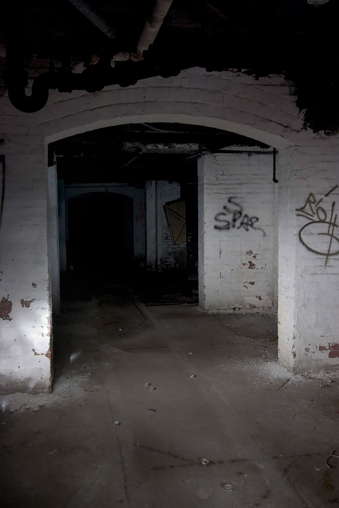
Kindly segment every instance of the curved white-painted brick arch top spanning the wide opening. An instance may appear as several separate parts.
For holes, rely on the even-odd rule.
[[[174,78],[149,78],[128,88],[101,92],[51,92],[34,117],[49,143],[121,123],[179,122],[223,129],[276,148],[300,142],[302,119],[281,76],[256,81],[240,73],[183,71]]]

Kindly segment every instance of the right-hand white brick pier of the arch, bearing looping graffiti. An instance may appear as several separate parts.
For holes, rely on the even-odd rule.
[[[279,359],[339,363],[339,141],[279,152]]]

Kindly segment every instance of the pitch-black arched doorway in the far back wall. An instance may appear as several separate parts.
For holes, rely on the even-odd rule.
[[[133,259],[133,199],[91,192],[68,200],[68,267],[75,273],[117,279]]]

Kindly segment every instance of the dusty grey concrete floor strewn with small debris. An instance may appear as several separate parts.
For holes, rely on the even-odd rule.
[[[113,288],[66,302],[54,344],[53,393],[2,399],[2,506],[339,505],[339,371],[291,376],[272,316]]]

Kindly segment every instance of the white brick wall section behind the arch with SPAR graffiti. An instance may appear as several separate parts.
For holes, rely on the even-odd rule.
[[[276,304],[272,159],[272,153],[251,152],[204,157],[200,167],[204,265],[199,294],[205,310]]]

